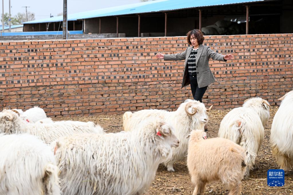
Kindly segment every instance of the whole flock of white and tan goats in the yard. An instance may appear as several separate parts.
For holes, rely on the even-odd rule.
[[[270,142],[287,173],[293,167],[293,91],[279,100]],[[53,121],[38,107],[3,110],[0,194],[144,194],[159,164],[175,171],[173,163],[185,158],[193,195],[216,180],[239,195],[263,142],[269,107],[259,97],[247,99],[223,118],[218,138],[211,139],[204,126],[212,106],[190,99],[173,112],[125,112],[118,133],[105,133],[93,122]]]

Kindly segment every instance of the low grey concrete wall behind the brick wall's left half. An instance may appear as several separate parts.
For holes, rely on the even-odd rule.
[[[0,36],[1,41],[15,41],[15,40],[54,40],[56,35],[26,35],[26,36]],[[102,34],[68,34],[68,39],[102,39],[115,38],[116,33],[102,33]],[[125,37],[125,33],[119,33],[119,37]],[[63,39],[63,35],[57,35],[56,39]]]

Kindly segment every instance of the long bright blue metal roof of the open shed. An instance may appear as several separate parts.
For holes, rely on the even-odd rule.
[[[136,3],[136,4],[128,4],[123,6],[115,6],[110,8],[97,9],[93,11],[68,14],[67,20],[72,21],[72,20],[114,16],[114,15],[151,13],[151,12],[161,12],[161,11],[170,11],[170,10],[196,8],[196,7],[252,3],[252,2],[259,2],[259,1],[265,1],[265,0],[209,0],[209,1],[156,0],[156,1],[146,1],[141,3]],[[25,22],[24,24],[59,22],[62,20],[63,20],[63,16],[57,16],[57,17],[52,17],[52,18],[47,18],[42,20],[33,20],[33,21]]]

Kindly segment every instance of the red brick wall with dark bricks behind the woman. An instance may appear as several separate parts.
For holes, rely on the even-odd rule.
[[[204,96],[207,106],[234,108],[254,96],[276,105],[292,90],[293,34],[205,38],[214,51],[235,55],[210,61],[217,81]],[[175,110],[192,96],[189,86],[180,89],[183,61],[154,55],[186,46],[185,37],[0,42],[0,110],[37,105],[49,116]]]

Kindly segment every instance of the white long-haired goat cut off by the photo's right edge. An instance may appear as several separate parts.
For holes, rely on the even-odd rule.
[[[272,122],[270,141],[273,156],[287,174],[293,167],[293,91],[279,100],[282,102]]]

